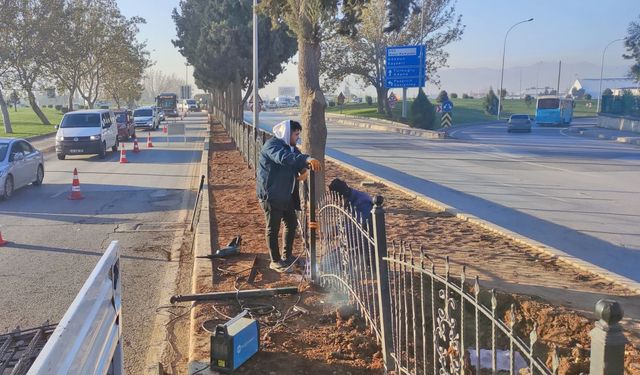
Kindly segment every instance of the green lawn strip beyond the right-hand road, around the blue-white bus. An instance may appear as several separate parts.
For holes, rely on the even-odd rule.
[[[482,99],[452,99],[453,101],[453,124],[468,124],[472,122],[491,121],[495,119],[495,116],[489,116],[484,112],[482,106]],[[587,103],[591,103],[591,108],[587,107]],[[411,102],[409,102],[409,106]],[[535,115],[535,103],[530,107],[527,107],[523,99],[507,99],[504,101],[503,112],[501,117],[506,118],[514,113],[526,113],[529,115]],[[340,113],[339,107],[327,108],[327,112]],[[376,104],[347,104],[342,108],[342,113],[353,116],[373,117],[373,118],[387,118],[385,115],[377,113]],[[398,102],[393,109],[393,120],[400,121],[402,114],[402,103]],[[576,107],[573,115],[575,117],[595,116],[596,115],[596,101],[591,100],[577,100]],[[440,115],[437,114],[438,119]]]

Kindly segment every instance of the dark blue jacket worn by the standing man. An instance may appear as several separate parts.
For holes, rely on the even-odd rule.
[[[256,176],[258,199],[282,210],[293,203],[294,208],[299,210],[300,196],[296,176],[307,166],[308,157],[297,147],[291,151],[291,147],[281,139],[269,139],[260,151]]]

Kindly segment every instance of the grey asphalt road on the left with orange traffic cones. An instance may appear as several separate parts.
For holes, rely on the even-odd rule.
[[[57,322],[112,240],[119,240],[123,281],[123,336],[128,373],[142,373],[176,235],[195,197],[206,115],[191,116],[187,143],[166,144],[162,131],[138,132],[142,152],[70,156],[46,153],[42,186],[27,186],[0,202],[0,332]],[[171,120],[173,121],[173,120]],[[144,138],[143,138],[144,137]],[[53,139],[35,143],[50,146]],[[77,168],[84,200],[68,200]],[[166,311],[165,311],[166,313]]]

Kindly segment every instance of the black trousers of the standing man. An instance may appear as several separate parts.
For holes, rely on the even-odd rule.
[[[298,219],[293,204],[289,204],[286,210],[273,207],[266,201],[261,201],[260,205],[264,210],[266,222],[265,237],[267,238],[271,261],[277,262],[282,259],[278,245],[278,234],[280,233],[281,222],[284,222],[284,257],[291,257],[293,255],[293,240],[296,237],[296,229],[298,227]]]

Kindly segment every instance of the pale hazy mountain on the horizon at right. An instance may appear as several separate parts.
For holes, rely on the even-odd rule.
[[[605,66],[604,77],[624,77],[629,66]],[[447,92],[485,93],[489,87],[497,90],[500,86],[500,68],[449,68],[438,72],[440,88],[427,85],[427,93],[436,95],[440,90]],[[577,78],[600,78],[600,66],[588,62],[562,64],[560,75],[560,91],[566,92]],[[558,63],[541,62],[521,67],[510,67],[504,70],[503,87],[508,93],[535,92],[535,87],[556,88],[558,84]]]

